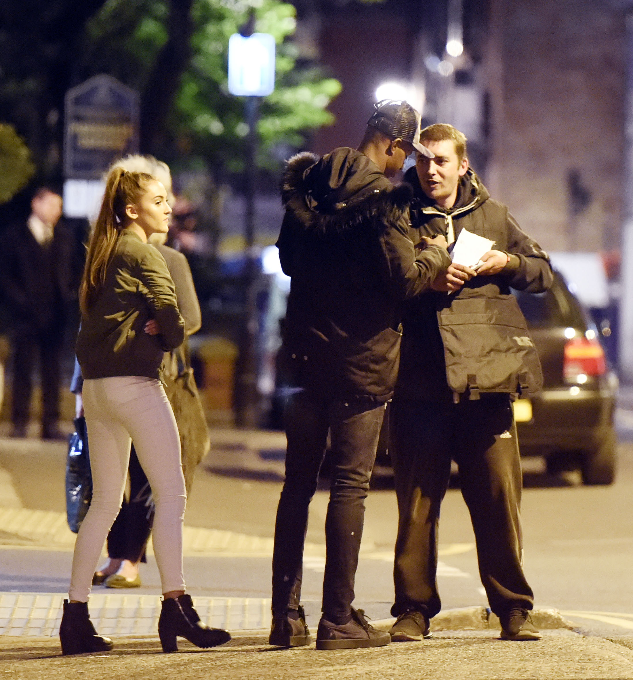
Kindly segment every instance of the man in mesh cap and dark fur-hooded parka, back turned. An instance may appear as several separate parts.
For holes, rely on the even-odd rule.
[[[326,567],[318,649],[390,641],[352,609],[354,575],[386,402],[398,371],[400,305],[450,265],[443,237],[416,251],[409,238],[411,190],[394,188],[417,143],[418,116],[405,102],[381,102],[358,150],[288,162],[286,215],[277,241],[291,277],[282,362],[292,376],[284,423],[286,481],[275,525],[270,643],[309,643],[301,598],[308,506],[328,430],[332,451]]]

